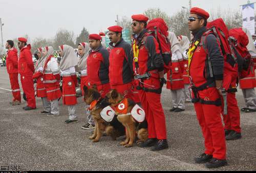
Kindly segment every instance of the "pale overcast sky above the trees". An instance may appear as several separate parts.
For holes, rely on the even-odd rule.
[[[251,1],[252,2],[252,1]],[[247,0],[192,0],[192,7],[207,11],[219,7],[241,9]],[[181,7],[188,7],[188,0],[0,0],[0,17],[4,42],[28,34],[30,38],[50,38],[59,28],[78,35],[83,27],[90,33],[99,33],[115,25],[116,15],[130,17],[143,13],[147,8],[160,8],[172,15]]]

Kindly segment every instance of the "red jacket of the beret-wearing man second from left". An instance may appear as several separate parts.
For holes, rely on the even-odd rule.
[[[34,74],[35,68],[30,52],[31,46],[27,45],[20,50],[18,58],[18,73],[19,74]]]

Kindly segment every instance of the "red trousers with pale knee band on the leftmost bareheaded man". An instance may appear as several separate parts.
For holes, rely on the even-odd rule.
[[[22,98],[20,97],[20,89],[18,84],[18,73],[12,73],[9,74],[10,82],[11,82],[11,88],[12,88],[12,95],[13,99],[12,101],[22,101]]]

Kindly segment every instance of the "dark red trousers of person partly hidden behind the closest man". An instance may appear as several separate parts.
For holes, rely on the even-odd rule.
[[[235,93],[227,93],[227,115],[223,115],[225,129],[241,133],[240,111]]]

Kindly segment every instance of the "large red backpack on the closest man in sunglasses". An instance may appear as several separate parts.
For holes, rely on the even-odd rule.
[[[204,41],[206,41],[206,36],[208,34],[214,34],[217,40],[220,43],[220,48],[222,55],[224,57],[224,79],[223,79],[223,89],[228,91],[230,89],[232,79],[236,79],[238,77],[238,63],[237,56],[234,53],[232,47],[229,45],[228,37],[229,32],[222,18],[218,18],[216,20],[210,21],[206,27],[208,30],[205,32],[203,41],[203,47],[206,50],[206,45]],[[209,64],[209,74],[210,77],[214,77],[211,63],[208,57]]]

